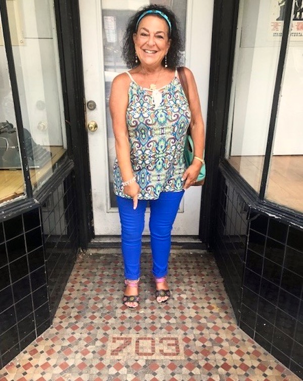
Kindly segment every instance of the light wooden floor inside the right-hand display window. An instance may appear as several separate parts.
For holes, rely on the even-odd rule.
[[[260,191],[264,156],[231,156],[228,161],[252,188]],[[303,155],[272,157],[265,197],[303,212]]]

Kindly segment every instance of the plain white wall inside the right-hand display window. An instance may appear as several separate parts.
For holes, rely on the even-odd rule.
[[[231,155],[264,155],[280,52],[270,36],[271,2],[245,0],[237,72]],[[303,43],[291,41],[274,142],[275,155],[303,154]]]

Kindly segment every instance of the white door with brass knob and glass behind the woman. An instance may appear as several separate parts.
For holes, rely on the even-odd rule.
[[[182,5],[186,4],[184,1],[176,0],[177,3],[178,1]],[[170,5],[173,2],[174,0],[168,1]],[[115,198],[112,192],[112,167],[115,157],[115,141],[108,112],[110,83],[118,72],[125,70],[122,61],[119,61],[118,53],[115,51],[115,46],[117,46],[117,41],[121,38],[120,34],[122,33],[122,30],[117,28],[116,19],[119,18],[119,12],[124,12],[125,17],[123,16],[122,19],[124,22],[124,19],[126,20],[130,14],[145,4],[148,2],[142,0],[79,0],[85,102],[92,100],[96,103],[94,110],[86,108],[86,121],[94,120],[98,125],[95,132],[88,131],[93,224],[96,235],[120,234],[118,210],[113,207],[115,206]],[[212,20],[213,0],[187,1],[186,66],[194,73],[205,119],[207,115]],[[104,48],[106,56],[104,55]],[[199,54],[197,54],[197,50]],[[111,71],[112,63],[115,64],[113,70],[116,72]],[[186,190],[172,234],[198,234],[200,197],[201,187],[191,187]],[[148,221],[149,213],[146,211],[144,234],[149,234]]]

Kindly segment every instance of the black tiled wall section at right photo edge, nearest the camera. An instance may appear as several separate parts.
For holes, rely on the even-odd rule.
[[[240,327],[303,378],[303,231],[253,209],[249,219]]]

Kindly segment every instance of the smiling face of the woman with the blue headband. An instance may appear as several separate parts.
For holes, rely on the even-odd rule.
[[[170,47],[168,24],[161,17],[145,16],[139,22],[133,40],[141,64],[157,67]]]

